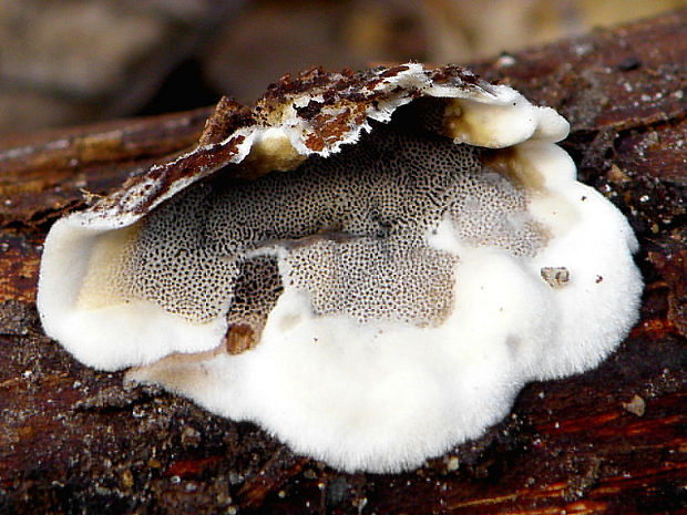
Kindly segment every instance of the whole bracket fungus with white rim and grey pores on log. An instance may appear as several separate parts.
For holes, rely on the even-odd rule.
[[[637,318],[637,241],[567,131],[459,66],[287,75],[53,225],[43,327],[332,466],[419,466]]]

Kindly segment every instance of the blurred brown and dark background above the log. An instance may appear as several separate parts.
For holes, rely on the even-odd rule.
[[[687,0],[0,0],[0,135],[215,103],[286,72],[468,63]]]

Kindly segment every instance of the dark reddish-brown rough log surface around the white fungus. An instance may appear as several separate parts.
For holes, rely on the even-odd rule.
[[[209,110],[0,142],[0,513],[687,513],[687,10],[473,68],[572,122],[581,178],[637,233],[642,320],[614,356],[530,384],[502,424],[416,472],[338,473],[124,391],[38,323],[50,223],[187,148]]]

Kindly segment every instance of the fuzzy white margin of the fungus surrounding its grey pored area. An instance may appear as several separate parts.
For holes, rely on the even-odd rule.
[[[127,379],[156,382],[214,413],[257,422],[296,452],[347,471],[420,465],[502,419],[524,382],[596,365],[637,316],[642,279],[627,222],[602,195],[575,182],[572,161],[551,143],[567,131],[555,112],[533,107],[506,86],[480,94],[422,85],[418,66],[410,64],[380,87],[459,97],[447,113],[457,142],[516,145],[515,174],[526,187],[532,181],[527,210],[551,231],[535,256],[519,257],[468,245],[445,218],[435,235],[427,235],[432,248],[459,258],[453,311],[443,323],[370,325],[345,315],[318,316],[303,290],[285,285],[255,349],[237,356],[213,351],[227,329],[223,317],[193,323],[143,300],[104,301],[99,308],[80,300],[94,250],[109,245],[107,231],[141,217],[86,212],[59,220],[45,241],[38,307],[47,333],[86,364],[143,365]],[[390,101],[368,116],[388,121],[409,101]],[[247,137],[235,162],[269,138],[286,137],[309,154],[304,125],[293,116],[277,127],[242,130]],[[362,130],[369,130],[367,122],[320,154],[353,143]],[[187,184],[175,185],[168,196]],[[288,255],[280,249],[275,255],[286,276]],[[570,280],[550,287],[541,277],[545,267],[566,268]]]

